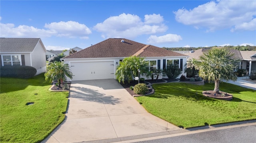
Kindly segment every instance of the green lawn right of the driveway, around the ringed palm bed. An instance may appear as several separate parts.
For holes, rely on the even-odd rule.
[[[154,84],[155,93],[136,97],[154,116],[177,126],[197,127],[256,119],[256,91],[228,83],[220,90],[233,95],[233,100],[217,100],[203,96],[214,84],[197,86],[185,83]]]

